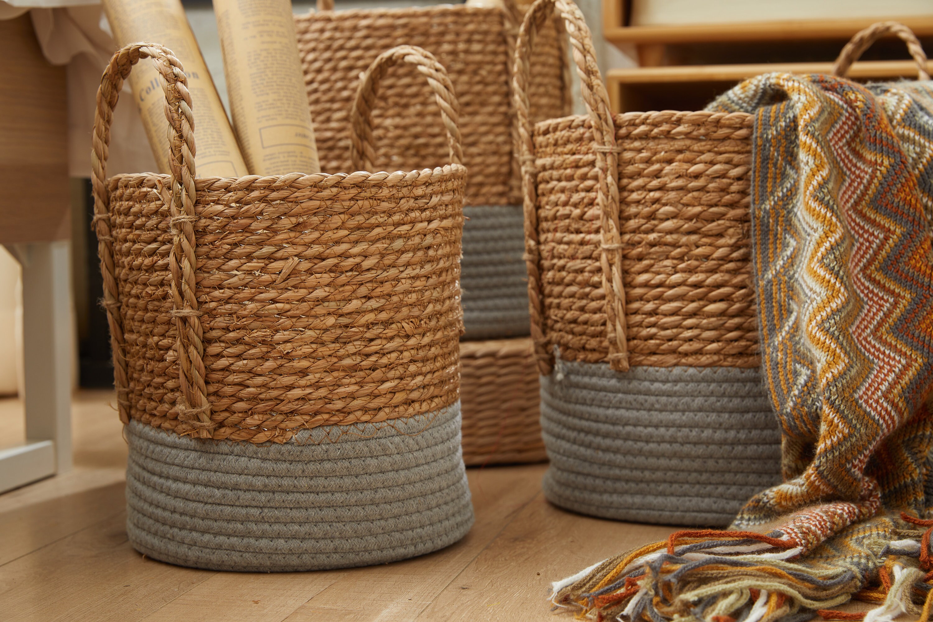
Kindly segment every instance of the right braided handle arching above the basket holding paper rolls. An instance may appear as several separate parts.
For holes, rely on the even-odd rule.
[[[376,151],[372,145],[372,107],[379,92],[379,83],[386,72],[399,62],[413,64],[427,78],[434,91],[434,101],[440,108],[440,118],[447,130],[447,145],[452,164],[463,164],[461,146],[460,104],[453,94],[453,83],[447,70],[434,55],[416,46],[398,46],[384,51],[369,65],[360,78],[356,89],[353,108],[350,111],[350,160],[355,171],[369,171],[375,161]]]

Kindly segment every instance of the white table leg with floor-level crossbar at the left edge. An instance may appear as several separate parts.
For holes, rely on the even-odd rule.
[[[0,451],[0,492],[71,469],[69,245],[7,244],[22,266],[26,443]]]

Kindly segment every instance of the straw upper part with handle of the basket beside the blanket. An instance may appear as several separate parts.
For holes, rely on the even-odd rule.
[[[752,117],[647,112],[613,117],[582,15],[572,27],[589,114],[532,127],[534,27],[516,51],[525,257],[541,373],[568,361],[759,365],[750,287]],[[532,63],[533,64],[533,63]],[[594,131],[595,129],[595,131]]]

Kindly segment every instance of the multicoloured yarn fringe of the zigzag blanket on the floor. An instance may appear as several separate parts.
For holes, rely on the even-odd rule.
[[[815,571],[791,561],[801,547],[757,532],[675,532],[666,542],[642,546],[592,565],[552,585],[551,601],[578,619],[608,622],[893,622],[911,614],[928,622],[933,607],[933,521],[904,515],[929,527],[920,541],[892,542],[880,570],[881,586],[861,589],[849,568]],[[919,558],[920,568],[899,556]],[[834,609],[853,599],[880,604],[867,613]],[[919,606],[922,603],[922,607]]]

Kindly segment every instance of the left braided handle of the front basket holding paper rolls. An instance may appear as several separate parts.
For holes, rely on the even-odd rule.
[[[110,229],[110,196],[107,188],[107,157],[110,145],[110,124],[117,105],[123,80],[130,75],[132,66],[140,59],[152,59],[162,76],[165,93],[165,117],[171,134],[169,153],[172,173],[169,175],[171,200],[172,253],[169,266],[172,271],[172,302],[175,330],[178,333],[178,368],[181,380],[181,401],[177,405],[178,418],[191,422],[196,433],[210,437],[215,427],[211,422],[211,407],[204,384],[203,342],[201,311],[195,297],[193,222],[195,200],[194,117],[191,113],[191,94],[188,78],[181,62],[172,50],[154,43],[133,43],[121,48],[107,65],[101,86],[97,90],[97,108],[94,111],[94,131],[91,138],[91,185],[94,193],[94,228],[97,233],[97,253],[104,276],[104,309],[110,325],[110,347],[113,351],[114,384],[117,387],[119,418],[130,422],[126,356],[123,325],[119,313],[119,288],[114,264],[113,237]]]

